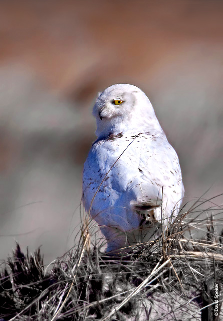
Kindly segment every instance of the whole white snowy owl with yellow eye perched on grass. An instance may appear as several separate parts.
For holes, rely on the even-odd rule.
[[[184,195],[178,156],[136,86],[116,84],[93,108],[97,140],[83,171],[83,204],[106,251],[147,242],[178,212]]]

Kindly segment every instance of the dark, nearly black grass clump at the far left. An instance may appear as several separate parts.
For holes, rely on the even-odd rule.
[[[28,251],[25,255],[17,244],[0,277],[0,316],[8,320],[23,309],[24,315],[36,313],[56,281],[52,273],[45,273],[40,249],[34,256]]]

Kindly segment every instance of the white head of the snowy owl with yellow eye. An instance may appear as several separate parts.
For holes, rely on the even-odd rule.
[[[96,117],[96,135],[106,138],[110,134],[150,130],[149,127],[160,128],[153,107],[144,94],[136,86],[116,84],[99,93],[93,115]]]

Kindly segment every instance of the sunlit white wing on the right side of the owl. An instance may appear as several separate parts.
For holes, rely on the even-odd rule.
[[[177,215],[184,187],[176,151],[165,136],[152,137],[147,150],[143,146],[146,145],[142,140],[139,168],[143,179],[149,182],[149,186],[152,184],[158,189],[163,214],[169,217],[177,207],[174,210]],[[156,211],[156,215],[160,219],[160,211]]]

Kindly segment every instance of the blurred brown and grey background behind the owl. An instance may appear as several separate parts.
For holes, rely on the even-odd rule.
[[[0,6],[0,259],[15,240],[42,245],[46,262],[74,244],[92,106],[114,83],[148,95],[179,155],[185,201],[223,193],[222,1]]]

